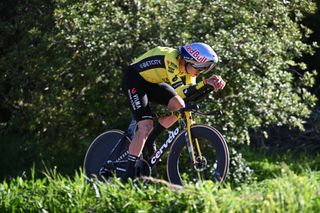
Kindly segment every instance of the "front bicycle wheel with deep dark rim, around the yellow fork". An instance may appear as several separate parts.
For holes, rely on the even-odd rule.
[[[197,172],[194,165],[192,165],[187,151],[185,133],[186,131],[180,133],[173,142],[167,159],[168,179],[171,183],[177,185],[184,185],[186,182],[197,182],[200,179],[199,171]],[[198,139],[203,159],[207,161],[204,172],[200,174],[202,175],[201,179],[222,183],[229,170],[229,151],[225,139],[218,130],[207,125],[192,126],[191,134],[193,139]],[[196,150],[195,147],[194,150]],[[192,175],[198,175],[198,177],[193,177]]]

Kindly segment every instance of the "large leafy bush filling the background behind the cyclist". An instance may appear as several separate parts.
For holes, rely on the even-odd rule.
[[[309,92],[316,71],[295,62],[316,46],[305,42],[311,31],[302,25],[317,9],[308,0],[13,5],[1,4],[0,111],[7,113],[0,132],[26,138],[17,147],[26,162],[72,162],[61,167],[75,169],[70,158],[59,162],[61,155],[79,160],[96,135],[125,129],[130,112],[120,90],[122,69],[157,45],[203,41],[216,50],[215,72],[227,86],[201,109],[222,114],[201,122],[219,128],[229,144],[249,143],[250,129],[303,129],[317,101]]]

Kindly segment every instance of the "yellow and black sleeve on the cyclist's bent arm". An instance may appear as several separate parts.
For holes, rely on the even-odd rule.
[[[181,98],[188,99],[205,87],[204,81],[196,83],[196,78],[191,76],[186,76],[184,82],[178,75],[180,72],[178,64],[175,64],[168,57],[165,60],[168,80]]]

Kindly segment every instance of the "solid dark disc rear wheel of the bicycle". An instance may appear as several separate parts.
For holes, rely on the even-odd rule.
[[[110,130],[102,133],[94,139],[90,144],[87,153],[84,158],[83,168],[87,178],[97,178],[99,180],[104,180],[106,177],[101,177],[99,174],[100,169],[107,162],[112,150],[121,140],[125,137],[125,145],[122,150],[119,150],[119,156],[124,153],[130,144],[130,139],[125,136],[125,133],[121,130]]]

